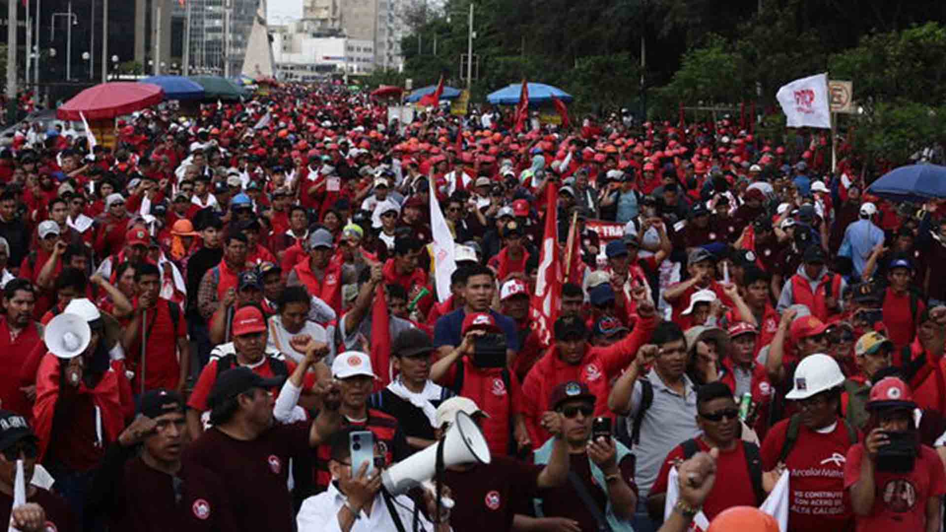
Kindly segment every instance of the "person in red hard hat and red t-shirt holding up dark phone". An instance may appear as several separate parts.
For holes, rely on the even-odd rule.
[[[942,525],[946,471],[937,452],[920,444],[915,408],[909,386],[896,377],[870,389],[867,437],[850,448],[844,468],[857,532],[937,532]]]

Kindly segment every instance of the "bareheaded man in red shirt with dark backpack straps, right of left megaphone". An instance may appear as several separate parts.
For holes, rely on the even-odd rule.
[[[166,388],[182,392],[190,366],[184,311],[180,307],[172,308],[177,303],[158,295],[161,274],[157,266],[147,262],[140,264],[134,272],[134,281],[138,299],[122,338],[122,346],[135,372],[134,389]],[[142,328],[146,328],[144,333]],[[147,342],[144,352],[142,334]]]

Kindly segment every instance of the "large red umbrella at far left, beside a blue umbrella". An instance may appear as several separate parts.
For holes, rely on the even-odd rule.
[[[75,98],[63,103],[56,110],[56,117],[60,120],[81,120],[81,112],[87,120],[114,118],[157,105],[164,98],[164,89],[151,83],[102,83],[85,89]]]

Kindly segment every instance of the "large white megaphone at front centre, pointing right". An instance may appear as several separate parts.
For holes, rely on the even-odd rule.
[[[438,445],[431,445],[384,470],[381,473],[384,488],[396,496],[432,479],[437,472]],[[490,461],[486,438],[482,437],[480,427],[465,412],[457,412],[456,420],[444,436],[443,446],[445,468],[475,462],[488,464]]]

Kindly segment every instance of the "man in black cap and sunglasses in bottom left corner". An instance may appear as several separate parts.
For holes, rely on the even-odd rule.
[[[4,523],[10,521],[16,461],[23,460],[26,502],[43,506],[45,519],[43,526],[18,526],[17,530],[78,530],[79,523],[76,523],[66,502],[48,489],[32,484],[37,452],[36,434],[29,428],[26,418],[9,410],[0,410],[0,519]]]

